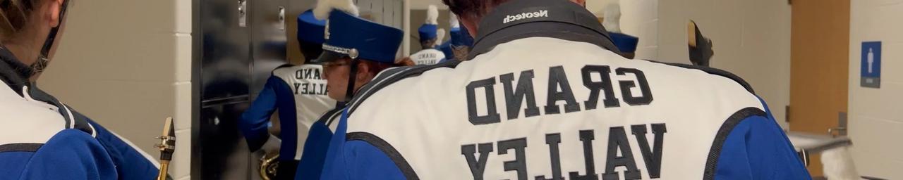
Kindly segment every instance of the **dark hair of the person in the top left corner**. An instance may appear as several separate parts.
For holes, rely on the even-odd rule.
[[[35,7],[46,0],[0,0],[0,40],[9,40],[23,31]]]

